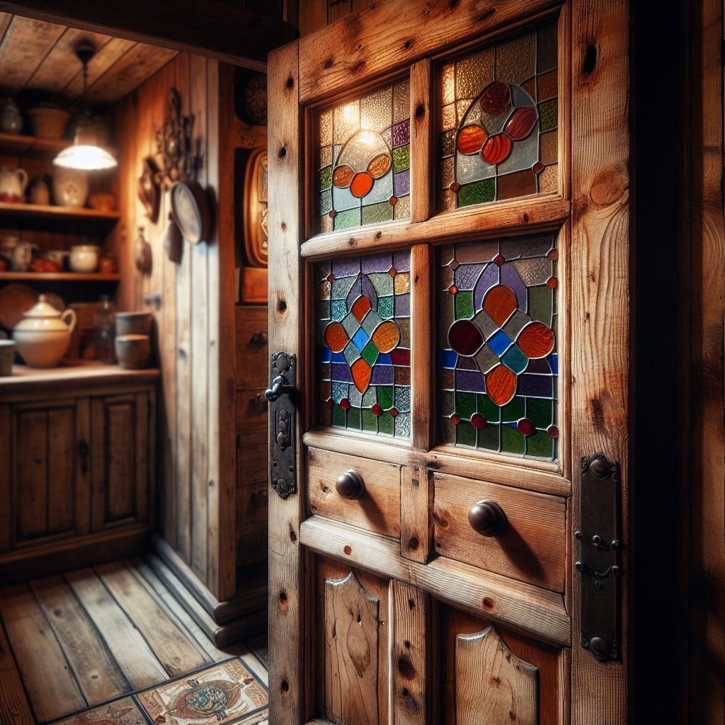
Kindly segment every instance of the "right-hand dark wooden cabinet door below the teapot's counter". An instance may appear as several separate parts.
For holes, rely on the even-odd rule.
[[[91,531],[149,521],[153,404],[149,392],[91,399]]]

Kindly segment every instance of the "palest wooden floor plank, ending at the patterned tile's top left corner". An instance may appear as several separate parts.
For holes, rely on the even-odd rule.
[[[133,689],[151,687],[170,679],[141,632],[133,626],[94,571],[79,569],[65,574],[65,579],[103,633],[109,650]]]

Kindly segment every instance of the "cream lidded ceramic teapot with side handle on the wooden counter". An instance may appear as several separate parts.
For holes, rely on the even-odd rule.
[[[12,331],[17,352],[30,368],[54,368],[70,345],[75,311],[58,312],[41,294]]]

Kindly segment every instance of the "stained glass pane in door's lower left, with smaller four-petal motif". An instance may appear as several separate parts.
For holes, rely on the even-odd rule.
[[[410,438],[410,252],[315,274],[320,423]]]

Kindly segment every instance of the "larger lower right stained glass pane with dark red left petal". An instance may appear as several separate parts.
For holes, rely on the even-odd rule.
[[[557,260],[552,233],[439,250],[442,442],[556,459]]]

